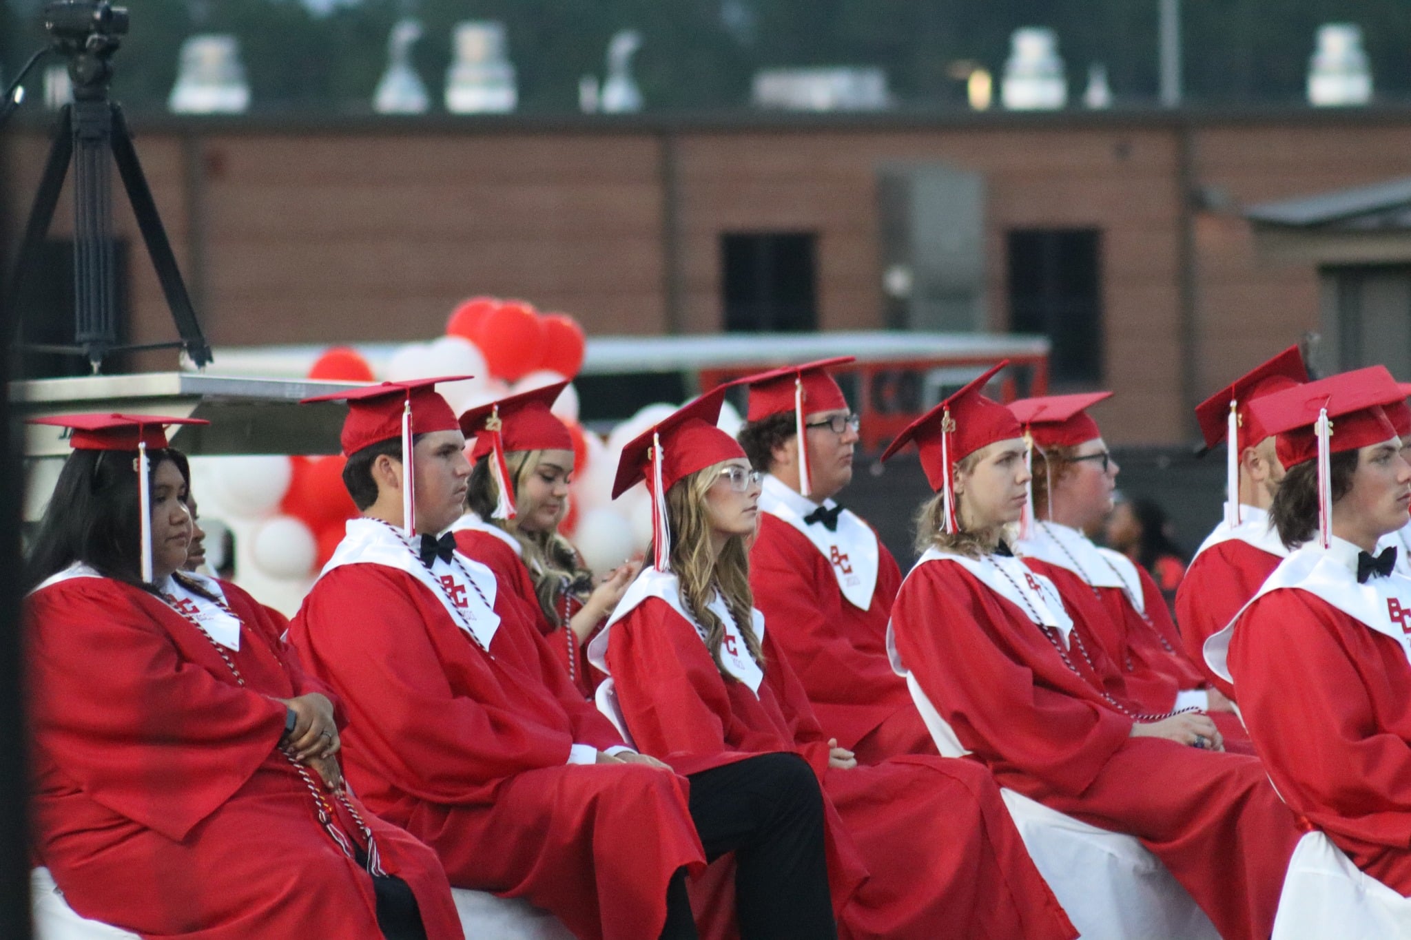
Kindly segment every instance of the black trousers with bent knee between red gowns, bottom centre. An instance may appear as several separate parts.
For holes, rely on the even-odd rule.
[[[797,754],[761,754],[691,774],[691,819],[706,857],[735,853],[741,940],[838,936],[824,858],[823,793]],[[667,888],[662,940],[694,940],[684,872]]]

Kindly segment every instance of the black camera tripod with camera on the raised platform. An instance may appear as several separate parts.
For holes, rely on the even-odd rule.
[[[16,256],[6,304],[13,311],[13,323],[6,331],[6,340],[8,342],[16,340],[21,321],[17,306],[20,289],[25,283],[25,275],[37,266],[44,238],[54,223],[59,192],[72,163],[73,344],[21,344],[20,348],[32,352],[83,355],[95,373],[102,369],[103,359],[113,352],[138,350],[182,348],[198,366],[203,366],[212,358],[210,344],[206,342],[196,311],[192,309],[190,295],[176,266],[176,256],[157,211],[152,190],[137,159],[137,148],[133,145],[133,134],[123,117],[123,109],[109,97],[109,83],[113,78],[111,56],[117,51],[119,35],[127,32],[127,10],[113,7],[109,0],[58,0],[45,7],[44,25],[51,37],[49,48],[68,58],[73,103],[65,104],[59,113],[49,156]],[[37,59],[38,55],[30,61],[25,70]],[[24,78],[24,72],[20,78]],[[117,342],[113,183],[109,158],[117,165],[128,204],[137,218],[137,228],[181,340],[143,345]]]

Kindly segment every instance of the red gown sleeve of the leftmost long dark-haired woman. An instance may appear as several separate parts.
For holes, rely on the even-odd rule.
[[[31,719],[92,799],[181,840],[274,753],[285,706],[186,660],[162,610],[106,578],[32,595]]]

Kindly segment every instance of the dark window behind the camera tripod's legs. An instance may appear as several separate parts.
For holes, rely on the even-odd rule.
[[[24,272],[16,309],[20,314],[23,345],[73,345],[73,241],[51,238],[38,251],[34,269]],[[117,342],[127,342],[130,323],[127,241],[113,242],[114,316]],[[103,361],[104,372],[123,369],[121,354]],[[89,375],[92,368],[82,355],[21,350],[23,378],[44,379]]]

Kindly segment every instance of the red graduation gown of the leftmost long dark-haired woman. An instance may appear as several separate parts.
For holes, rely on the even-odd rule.
[[[274,698],[327,689],[250,595],[222,585],[240,650],[152,595],[72,578],[28,602],[34,844],[69,905],[147,937],[381,940],[373,881],[315,817],[278,753]],[[361,836],[329,796],[344,833]],[[460,919],[435,854],[353,799],[432,940]]]

